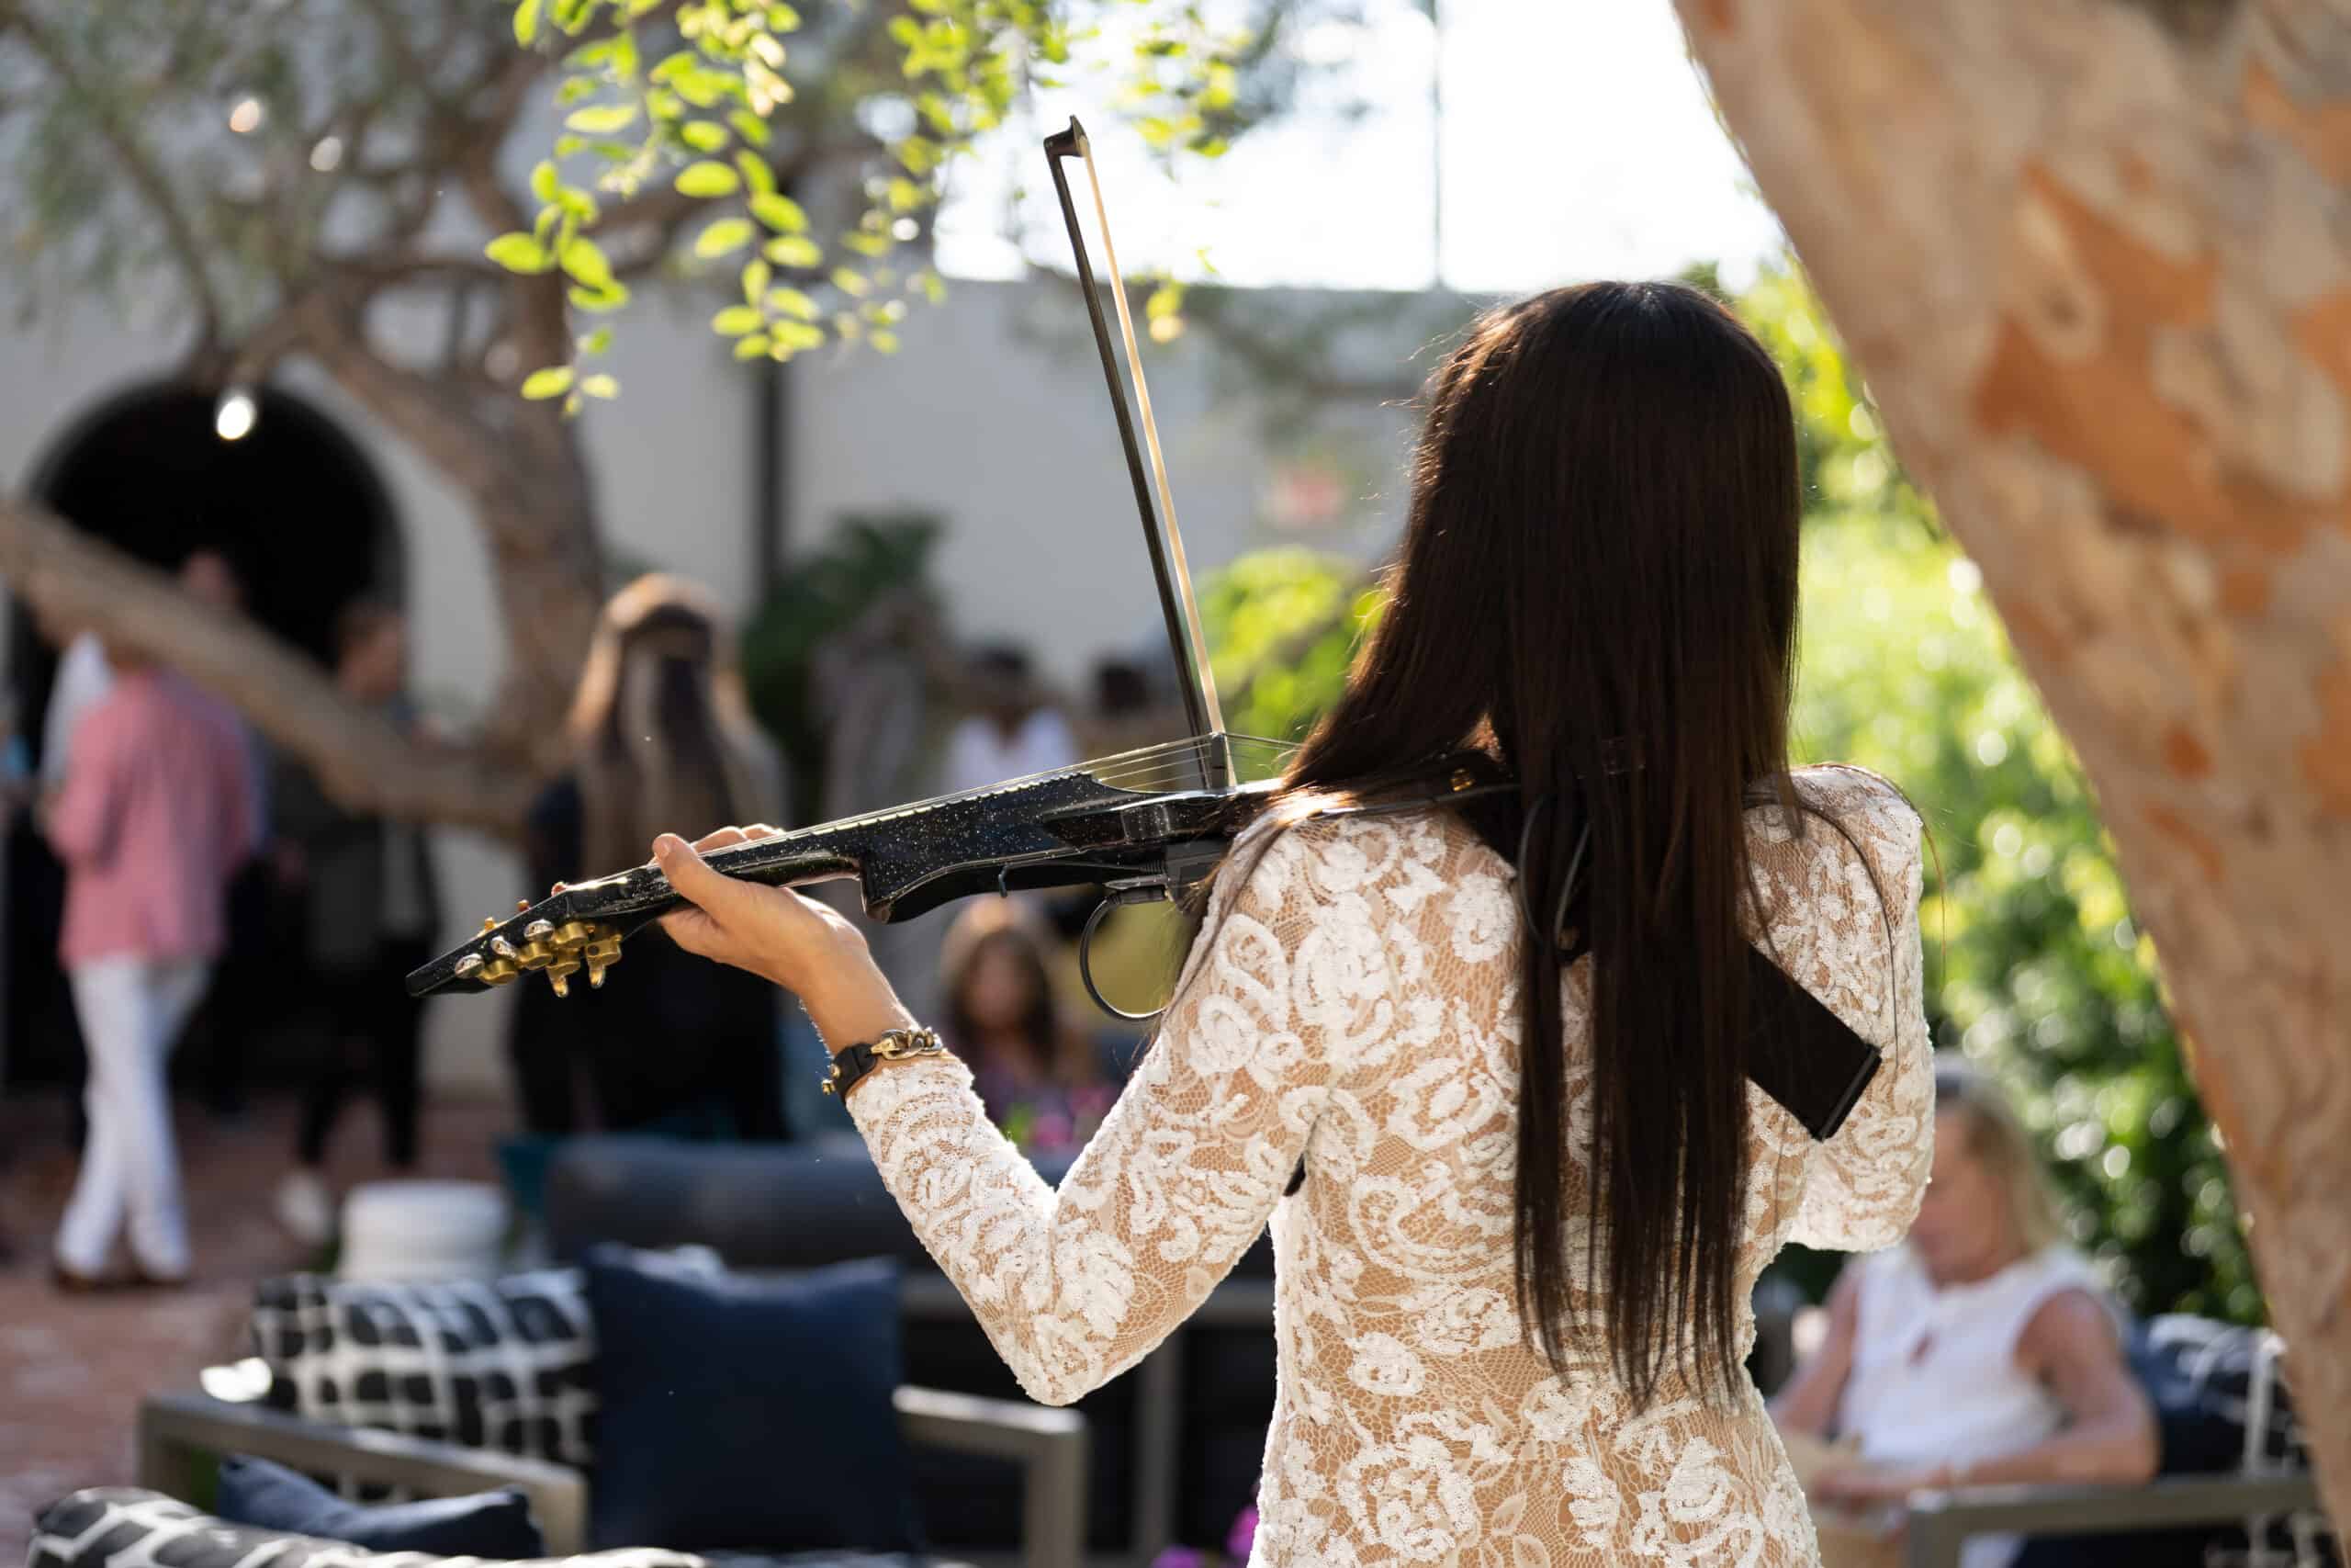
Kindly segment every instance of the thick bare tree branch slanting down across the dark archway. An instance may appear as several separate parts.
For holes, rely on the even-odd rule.
[[[0,574],[42,616],[136,646],[233,703],[350,811],[503,837],[522,830],[531,802],[522,771],[418,748],[252,621],[190,599],[160,571],[28,503],[0,498]]]

